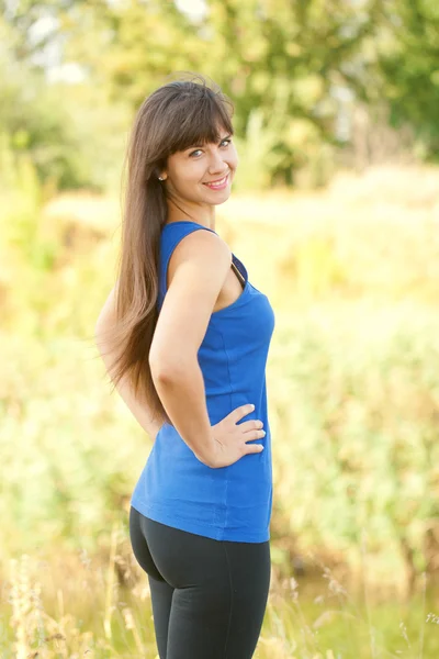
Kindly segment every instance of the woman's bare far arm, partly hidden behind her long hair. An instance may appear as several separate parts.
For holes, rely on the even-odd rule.
[[[111,377],[110,369],[114,360],[114,355],[111,353],[110,345],[105,340],[105,330],[114,321],[114,293],[115,288],[110,292],[109,298],[99,315],[95,325],[95,343],[102,360],[105,365],[106,371]],[[148,404],[145,400],[142,400],[137,394],[135,395],[133,387],[130,384],[126,377],[123,377],[116,384],[116,391],[125,402],[136,421],[140,424],[147,435],[155,440],[156,435],[161,426],[157,420],[153,420],[153,414]]]

